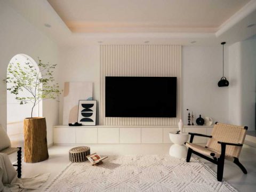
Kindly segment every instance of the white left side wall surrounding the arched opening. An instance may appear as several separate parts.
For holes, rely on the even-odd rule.
[[[58,63],[58,46],[37,30],[5,1],[0,1],[0,123],[6,129],[6,69],[12,57],[24,53],[37,61]],[[58,81],[58,76],[56,76]],[[27,115],[29,116],[29,114]],[[43,101],[43,116],[47,122],[48,143],[53,142],[52,126],[58,124],[58,102]]]

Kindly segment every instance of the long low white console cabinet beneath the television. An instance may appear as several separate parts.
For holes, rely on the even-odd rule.
[[[213,126],[184,126],[184,132],[210,135]],[[177,131],[177,126],[68,126],[53,127],[55,144],[86,143],[171,143],[169,132]],[[206,143],[207,138],[195,137],[195,143]]]

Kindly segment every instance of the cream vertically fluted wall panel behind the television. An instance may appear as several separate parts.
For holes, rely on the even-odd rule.
[[[181,45],[100,45],[100,125],[177,125],[181,117]],[[105,117],[105,77],[177,77],[177,117]]]

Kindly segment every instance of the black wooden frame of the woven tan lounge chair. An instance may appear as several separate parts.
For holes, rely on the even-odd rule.
[[[247,126],[244,127],[244,129],[248,129]],[[198,136],[198,137],[207,137],[207,138],[212,138],[211,135],[205,135],[205,134],[199,134],[199,133],[188,133],[190,134],[190,143],[193,143],[193,139],[194,139],[194,136]],[[239,147],[242,147],[243,144],[241,143],[228,143],[228,142],[221,142],[221,141],[218,141],[218,143],[221,145],[221,155],[219,158],[217,157],[208,157],[208,156],[205,156],[201,153],[198,153],[197,151],[194,151],[193,149],[191,148],[188,148],[188,154],[187,154],[187,162],[190,161],[190,157],[191,157],[191,154],[195,154],[199,157],[202,157],[204,159],[206,159],[207,161],[210,161],[214,164],[217,164],[217,180],[218,181],[222,181],[222,178],[223,178],[223,170],[224,170],[224,162],[225,162],[225,154],[226,154],[226,146],[227,145],[230,145],[230,146],[239,146]],[[185,143],[186,145],[186,143]],[[214,153],[211,154],[211,156],[214,156]],[[245,167],[239,162],[239,159],[237,157],[233,157],[234,158],[234,163],[243,171],[244,174],[247,174],[247,171],[245,169]]]

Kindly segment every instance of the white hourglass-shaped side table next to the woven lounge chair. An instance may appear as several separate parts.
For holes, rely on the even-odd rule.
[[[176,134],[176,132],[170,132],[169,137],[173,142],[173,145],[170,147],[169,154],[173,157],[185,158],[187,156],[188,149],[184,143],[188,141],[188,133]]]

